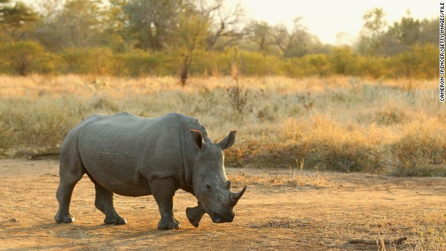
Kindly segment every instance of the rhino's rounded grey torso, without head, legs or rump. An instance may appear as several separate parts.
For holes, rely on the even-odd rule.
[[[72,138],[82,164],[95,181],[120,195],[141,196],[151,194],[148,181],[155,177],[186,185],[190,129],[206,134],[197,119],[183,114],[148,119],[121,113],[90,116],[70,134],[77,135]]]

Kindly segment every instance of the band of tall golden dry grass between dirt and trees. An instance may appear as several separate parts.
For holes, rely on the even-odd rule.
[[[229,166],[446,176],[436,81],[355,77],[0,76],[0,155],[58,151],[95,113],[195,116],[213,139],[237,130]]]

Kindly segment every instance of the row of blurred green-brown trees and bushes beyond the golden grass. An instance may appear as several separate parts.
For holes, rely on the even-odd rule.
[[[364,13],[353,45],[321,43],[296,17],[292,25],[249,20],[223,0],[0,1],[0,73],[120,77],[348,75],[429,79],[437,75],[438,19],[408,12],[387,24]]]

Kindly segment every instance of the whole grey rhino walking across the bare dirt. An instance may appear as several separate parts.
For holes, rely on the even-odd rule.
[[[60,183],[56,192],[56,222],[74,222],[72,190],[84,174],[95,184],[95,206],[105,224],[125,224],[113,206],[114,193],[153,195],[160,209],[158,229],[180,229],[174,218],[173,197],[183,189],[199,205],[187,208],[198,227],[204,213],[215,223],[232,222],[233,206],[245,192],[231,192],[224,172],[224,149],[232,146],[235,131],[215,143],[206,128],[190,116],[166,114],[154,119],[128,113],[93,115],[70,130],[61,147]]]

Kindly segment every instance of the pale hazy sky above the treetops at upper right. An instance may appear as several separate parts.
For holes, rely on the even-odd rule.
[[[236,1],[236,0],[226,0]],[[272,25],[291,24],[294,17],[303,17],[302,23],[309,33],[323,43],[336,44],[339,32],[348,33],[354,40],[364,23],[367,10],[383,8],[388,24],[401,20],[407,10],[413,17],[438,17],[440,1],[433,0],[239,0],[248,17],[264,20]]]

